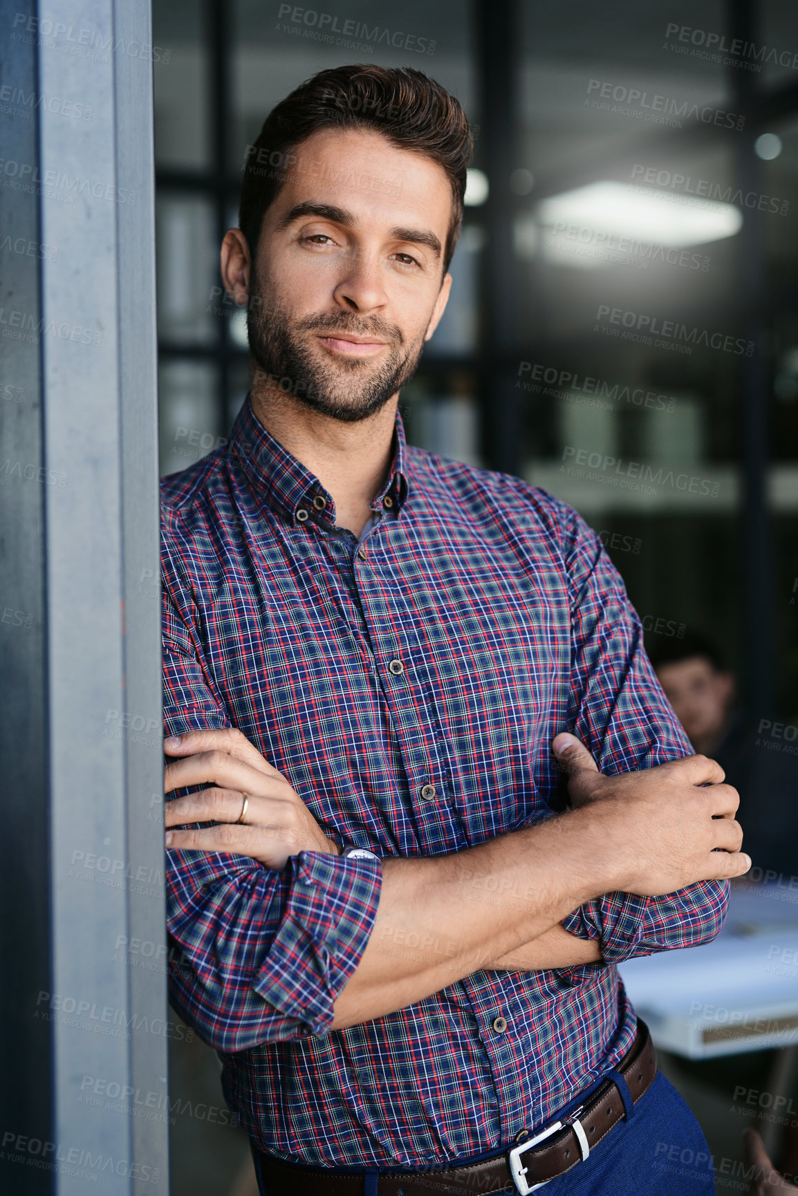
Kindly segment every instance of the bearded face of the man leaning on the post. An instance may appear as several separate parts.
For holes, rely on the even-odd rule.
[[[250,271],[250,352],[305,407],[365,420],[413,376],[446,305],[449,179],[377,133],[325,129],[294,153]]]

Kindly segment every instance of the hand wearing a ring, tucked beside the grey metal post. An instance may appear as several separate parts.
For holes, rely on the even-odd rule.
[[[252,856],[267,868],[284,868],[288,856],[299,852],[339,854],[287,777],[268,764],[236,727],[187,731],[175,746],[164,740],[164,753],[182,757],[164,769],[164,793],[207,781],[215,786],[167,801],[166,826],[221,823],[203,830],[172,830],[166,835],[166,847],[181,852],[236,852]],[[244,793],[249,799],[246,814],[238,823]]]

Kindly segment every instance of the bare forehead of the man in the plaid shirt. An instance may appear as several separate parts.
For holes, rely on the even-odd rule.
[[[361,129],[319,129],[292,151],[272,208],[279,214],[305,200],[346,208],[368,226],[424,220],[441,242],[453,202],[443,166]]]

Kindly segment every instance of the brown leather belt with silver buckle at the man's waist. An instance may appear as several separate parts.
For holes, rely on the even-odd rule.
[[[648,1027],[638,1019],[634,1043],[615,1068],[629,1088],[633,1103],[646,1092],[657,1074],[657,1051]],[[613,1079],[601,1084],[584,1105],[579,1105],[529,1141],[508,1147],[505,1154],[463,1166],[421,1167],[414,1171],[380,1173],[378,1196],[481,1196],[513,1188],[522,1194],[536,1184],[556,1179],[586,1159],[623,1117],[623,1100]],[[532,1142],[540,1145],[532,1146]],[[284,1164],[256,1152],[263,1184],[269,1196],[364,1196],[363,1171],[347,1174],[329,1167]],[[364,1168],[365,1170],[365,1168]],[[373,1190],[373,1189],[372,1189]]]

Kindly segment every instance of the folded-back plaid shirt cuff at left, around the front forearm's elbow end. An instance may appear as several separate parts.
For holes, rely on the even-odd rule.
[[[285,915],[252,988],[310,1033],[323,1035],[371,938],[382,861],[299,852],[285,871],[292,878]]]

